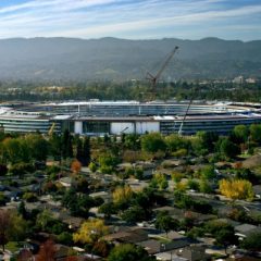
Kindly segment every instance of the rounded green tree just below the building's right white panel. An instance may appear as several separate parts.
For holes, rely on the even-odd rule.
[[[146,134],[141,137],[141,148],[147,152],[165,151],[166,145],[159,133]]]

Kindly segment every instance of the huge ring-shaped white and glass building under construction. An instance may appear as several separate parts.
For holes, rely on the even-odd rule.
[[[67,128],[80,135],[160,132],[191,135],[199,130],[226,134],[235,125],[261,123],[261,104],[197,102],[88,101],[14,103],[0,108],[0,127],[8,133],[48,133]],[[185,120],[185,121],[184,121]]]

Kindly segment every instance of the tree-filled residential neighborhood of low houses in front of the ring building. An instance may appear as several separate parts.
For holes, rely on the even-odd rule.
[[[260,260],[260,129],[2,133],[0,257]]]

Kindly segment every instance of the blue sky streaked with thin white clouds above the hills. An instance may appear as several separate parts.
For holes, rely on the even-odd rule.
[[[0,0],[0,38],[261,39],[261,0]]]

